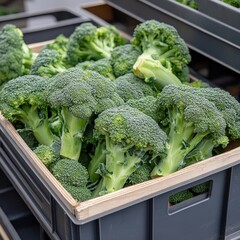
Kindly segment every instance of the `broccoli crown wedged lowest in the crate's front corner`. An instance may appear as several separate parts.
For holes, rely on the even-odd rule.
[[[62,185],[77,201],[83,202],[91,198],[92,192],[87,186],[76,187],[64,183]]]

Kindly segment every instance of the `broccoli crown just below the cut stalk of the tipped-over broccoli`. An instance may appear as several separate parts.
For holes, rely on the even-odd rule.
[[[117,93],[126,102],[129,99],[139,99],[145,96],[156,96],[156,91],[151,85],[146,84],[142,79],[133,73],[127,73],[114,81]]]

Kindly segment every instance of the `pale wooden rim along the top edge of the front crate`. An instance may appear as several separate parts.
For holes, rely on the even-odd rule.
[[[181,169],[165,177],[155,178],[144,183],[129,186],[101,197],[84,202],[77,202],[53,177],[37,156],[28,148],[18,135],[12,124],[0,113],[0,127],[24,155],[37,177],[42,181],[53,197],[61,201],[67,209],[69,217],[77,224],[84,224],[91,220],[105,216],[111,212],[123,209],[138,202],[147,200],[167,191],[176,189],[184,184],[207,177],[213,173],[240,164],[240,147],[208,158],[199,163]]]

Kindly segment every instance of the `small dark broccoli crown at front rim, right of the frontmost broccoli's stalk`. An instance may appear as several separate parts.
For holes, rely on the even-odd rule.
[[[128,178],[130,185],[145,182],[151,179],[152,166],[146,162],[138,167]]]

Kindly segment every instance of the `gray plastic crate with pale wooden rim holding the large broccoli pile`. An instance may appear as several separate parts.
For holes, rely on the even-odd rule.
[[[40,160],[6,120],[0,121],[0,136],[0,168],[51,239],[240,238],[239,147],[167,177],[69,207],[66,194],[53,187],[49,174],[37,167]],[[208,193],[169,206],[172,194],[203,182],[211,183]]]

